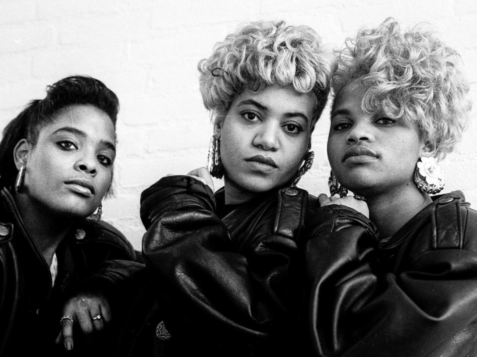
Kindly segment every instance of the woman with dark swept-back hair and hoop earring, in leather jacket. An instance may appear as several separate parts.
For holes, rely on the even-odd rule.
[[[115,307],[108,298],[138,267],[126,238],[100,221],[118,109],[102,82],[72,76],[3,130],[1,356],[56,356],[65,351],[55,345],[61,334],[71,350],[74,330],[103,330]]]

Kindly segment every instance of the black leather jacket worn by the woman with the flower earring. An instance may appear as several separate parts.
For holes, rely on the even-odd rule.
[[[434,197],[381,243],[336,207],[304,235],[318,355],[476,357],[477,212],[462,192]]]

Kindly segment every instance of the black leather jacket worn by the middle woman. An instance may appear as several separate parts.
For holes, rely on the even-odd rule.
[[[172,176],[143,192],[143,255],[170,333],[163,356],[311,354],[298,230],[276,230],[282,191],[224,206],[223,190]],[[318,201],[300,192],[282,216],[303,223]]]

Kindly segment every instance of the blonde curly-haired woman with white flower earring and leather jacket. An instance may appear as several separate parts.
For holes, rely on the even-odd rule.
[[[432,31],[391,18],[340,53],[331,188],[363,196],[380,235],[345,217],[352,197],[318,196],[304,241],[318,356],[477,356],[477,212],[461,191],[430,196],[470,111],[459,61]]]

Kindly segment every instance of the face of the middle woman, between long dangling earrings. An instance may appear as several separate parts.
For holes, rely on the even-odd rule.
[[[245,89],[216,121],[226,190],[264,192],[297,172],[308,148],[316,98],[293,86]]]

